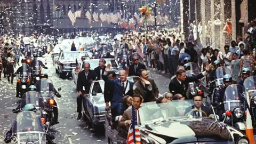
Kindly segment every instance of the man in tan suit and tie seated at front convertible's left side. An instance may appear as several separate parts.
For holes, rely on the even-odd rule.
[[[141,95],[133,95],[133,106],[136,111],[138,112],[138,109],[140,108],[140,105],[142,103],[143,98]],[[124,111],[123,117],[118,123],[118,126],[122,129],[129,130],[129,126],[131,125],[132,120],[132,109],[128,109]],[[140,123],[140,116],[138,116],[138,122]]]

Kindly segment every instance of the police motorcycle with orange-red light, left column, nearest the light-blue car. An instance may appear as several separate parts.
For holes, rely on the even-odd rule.
[[[39,79],[36,82],[36,87],[38,92],[41,93],[43,102],[45,105],[45,121],[50,122],[50,125],[57,124],[56,117],[53,112],[53,107],[57,107],[55,104],[55,94],[54,94],[54,87],[53,84],[47,78]]]

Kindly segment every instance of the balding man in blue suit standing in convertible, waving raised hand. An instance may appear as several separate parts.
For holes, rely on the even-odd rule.
[[[105,73],[103,75],[103,80],[105,82],[110,82],[113,84],[113,97],[111,99],[111,114],[112,117],[116,117],[122,113],[121,109],[123,108],[122,99],[124,95],[133,95],[133,82],[127,81],[127,74],[125,70],[119,71],[119,78],[109,79],[107,77],[107,73],[110,70],[110,64],[105,69]]]

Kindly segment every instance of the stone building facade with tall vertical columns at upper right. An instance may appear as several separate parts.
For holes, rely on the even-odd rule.
[[[256,4],[254,0],[181,0],[181,19],[182,29],[185,38],[189,35],[188,20],[199,20],[202,25],[202,31],[198,37],[204,46],[209,45],[207,38],[211,41],[213,49],[223,48],[225,44],[229,44],[229,39],[223,33],[227,20],[231,20],[231,40],[235,40],[238,36],[244,38],[247,31],[247,22],[256,18]],[[199,23],[198,23],[199,25]],[[207,31],[207,30],[211,31]],[[222,49],[221,49],[222,50]]]

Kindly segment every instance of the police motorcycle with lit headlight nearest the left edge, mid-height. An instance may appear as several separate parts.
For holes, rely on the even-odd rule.
[[[19,90],[21,98],[22,95],[28,91],[31,80],[31,69],[26,63],[22,63],[22,73],[18,73],[17,78],[17,89]]]

